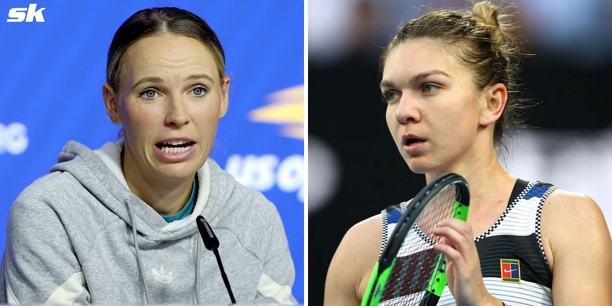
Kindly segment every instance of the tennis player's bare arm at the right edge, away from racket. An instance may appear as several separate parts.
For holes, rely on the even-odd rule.
[[[602,211],[588,196],[557,190],[542,211],[552,252],[555,305],[612,305],[612,241]]]

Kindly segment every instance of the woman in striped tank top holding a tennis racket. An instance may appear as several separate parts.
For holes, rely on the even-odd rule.
[[[427,13],[401,26],[381,59],[387,125],[410,170],[427,182],[457,173],[470,187],[467,222],[433,230],[447,258],[438,305],[612,305],[612,242],[597,204],[517,179],[498,161],[522,106],[503,17],[486,1],[468,13]],[[390,212],[346,233],[327,273],[326,305],[360,303],[397,222]]]

